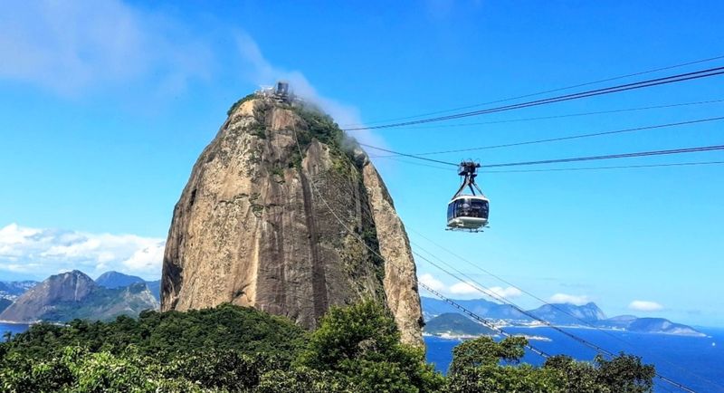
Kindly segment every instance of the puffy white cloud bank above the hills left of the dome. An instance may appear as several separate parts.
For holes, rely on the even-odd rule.
[[[11,224],[0,228],[0,274],[6,271],[45,277],[72,269],[90,275],[118,270],[157,279],[164,247],[165,241],[158,238]]]

